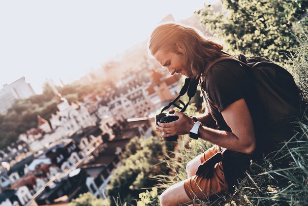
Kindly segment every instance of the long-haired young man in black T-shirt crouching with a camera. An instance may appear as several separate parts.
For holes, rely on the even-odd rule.
[[[180,24],[162,24],[151,34],[149,51],[155,60],[166,67],[171,75],[180,73],[187,78],[200,77],[199,85],[208,108],[208,113],[196,117],[196,122],[175,111],[174,115],[179,119],[158,123],[156,130],[168,133],[162,137],[170,137],[189,134],[194,128],[199,138],[215,145],[187,164],[186,180],[161,194],[160,203],[163,206],[177,206],[196,198],[208,199],[230,189],[235,179],[243,173],[242,167],[249,164],[249,155],[257,152],[258,143],[265,137],[262,133],[262,109],[259,108],[247,69],[226,60],[205,73],[207,65],[221,56],[221,50],[220,44]],[[219,162],[214,167],[212,177],[195,175],[198,166],[221,148],[234,151],[235,156],[228,164],[237,166],[237,169],[223,167]],[[236,174],[235,178],[233,174]]]

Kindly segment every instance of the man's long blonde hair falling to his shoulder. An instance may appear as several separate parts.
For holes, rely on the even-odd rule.
[[[164,23],[152,32],[149,51],[152,55],[159,49],[178,53],[177,43],[183,48],[185,65],[195,78],[202,75],[211,60],[220,57],[223,48],[194,28],[178,23]]]

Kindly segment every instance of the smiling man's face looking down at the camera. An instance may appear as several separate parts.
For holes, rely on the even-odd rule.
[[[181,51],[175,53],[159,49],[153,56],[162,67],[166,67],[168,69],[171,75],[180,73],[189,78]]]

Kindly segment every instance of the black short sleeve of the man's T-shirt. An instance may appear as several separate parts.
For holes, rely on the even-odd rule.
[[[247,76],[243,69],[236,63],[224,61],[217,63],[209,70],[205,91],[218,112],[244,98],[243,81]]]

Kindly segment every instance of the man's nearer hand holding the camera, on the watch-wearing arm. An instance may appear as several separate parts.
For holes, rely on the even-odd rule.
[[[170,111],[169,111],[170,112]],[[168,134],[162,135],[162,138],[171,137],[174,135],[185,135],[189,134],[189,131],[194,125],[192,119],[182,112],[175,111],[174,116],[178,116],[179,119],[169,123],[161,123],[158,122],[156,125],[156,131],[158,132],[165,132]]]

